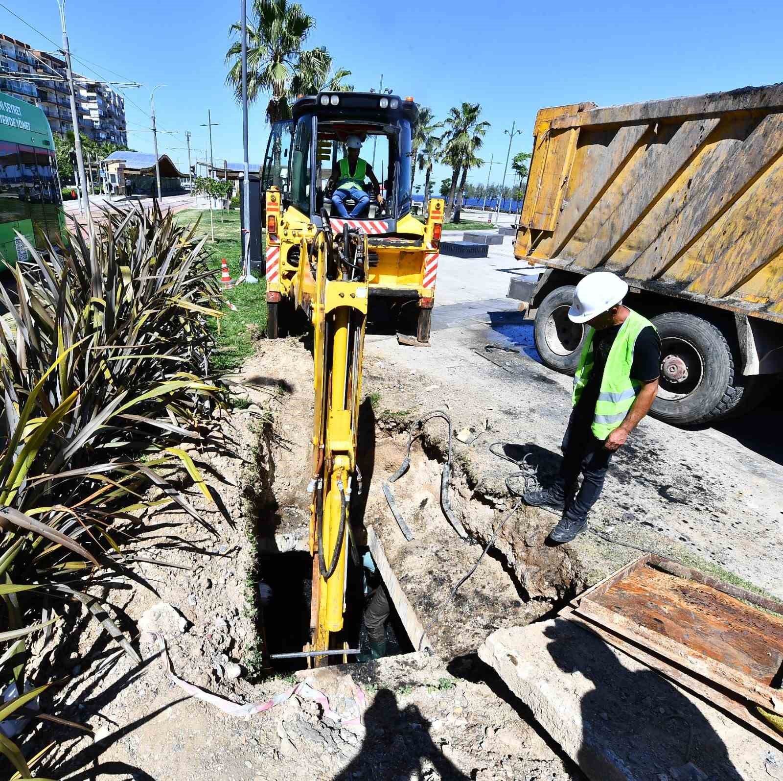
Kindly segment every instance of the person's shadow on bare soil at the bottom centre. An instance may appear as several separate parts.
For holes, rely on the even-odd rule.
[[[333,781],[355,778],[410,779],[416,772],[424,778],[434,768],[443,781],[470,781],[443,756],[430,736],[430,722],[416,705],[399,709],[397,698],[381,689],[364,714],[367,732],[359,754]]]

